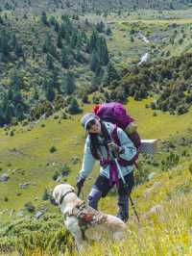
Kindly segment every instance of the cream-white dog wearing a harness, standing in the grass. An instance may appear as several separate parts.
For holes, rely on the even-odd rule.
[[[105,234],[114,240],[123,240],[126,224],[114,216],[106,215],[85,206],[75,189],[68,184],[55,187],[53,197],[60,206],[64,224],[75,239],[78,250],[87,245],[88,240],[98,241]]]

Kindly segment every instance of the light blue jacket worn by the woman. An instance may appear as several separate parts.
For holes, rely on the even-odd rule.
[[[109,122],[104,122],[106,125],[106,128],[108,129],[108,134],[111,134],[111,132],[114,129],[114,124]],[[117,128],[117,136],[119,138],[121,147],[124,148],[124,153],[120,154],[120,157],[124,160],[131,161],[132,158],[136,154],[136,148],[133,145],[132,141],[128,138],[126,133],[121,129]],[[103,139],[99,136],[99,140],[102,141]],[[108,151],[105,146],[101,146],[101,153],[102,156],[107,159],[108,158]],[[87,136],[85,144],[84,144],[84,161],[82,165],[82,169],[80,170],[80,178],[86,178],[92,171],[94,164],[96,162],[96,159],[92,156],[90,151],[90,139],[89,136]],[[121,166],[121,172],[123,176],[130,173],[133,169],[132,166]],[[101,166],[100,167],[100,175],[106,176],[109,178],[109,165],[108,166]],[[118,177],[120,178],[120,173],[118,171]]]

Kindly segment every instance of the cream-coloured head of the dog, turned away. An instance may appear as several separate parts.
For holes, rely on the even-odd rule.
[[[55,201],[54,204],[60,205],[63,196],[68,192],[75,192],[75,189],[67,183],[57,185],[53,191],[53,201]]]

